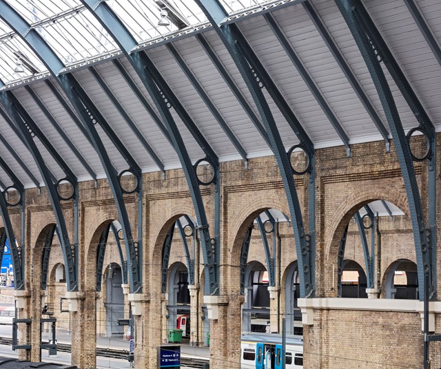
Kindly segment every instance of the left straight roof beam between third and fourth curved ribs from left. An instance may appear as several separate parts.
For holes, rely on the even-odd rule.
[[[153,161],[155,162],[156,166],[160,171],[164,173],[164,165],[161,159],[158,157],[152,146],[147,142],[144,135],[141,133],[139,128],[136,126],[136,123],[130,118],[130,115],[127,114],[125,111],[123,105],[119,102],[118,98],[114,95],[110,87],[105,83],[101,75],[99,74],[98,70],[96,70],[95,67],[90,67],[89,71],[93,74],[98,84],[101,86],[107,97],[112,101],[113,105],[116,107],[116,110],[118,110],[119,114],[124,118],[125,122],[129,125],[130,129],[132,129],[133,133],[135,134],[136,138],[139,139],[141,144],[143,145],[144,149],[149,153]]]

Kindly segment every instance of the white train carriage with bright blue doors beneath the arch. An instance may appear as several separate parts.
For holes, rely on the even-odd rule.
[[[243,334],[240,344],[241,369],[282,369],[282,336],[271,333]],[[288,335],[286,369],[303,368],[303,340]]]

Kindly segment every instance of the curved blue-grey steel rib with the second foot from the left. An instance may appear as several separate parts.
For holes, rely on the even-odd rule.
[[[1,17],[1,15],[0,15]],[[32,154],[43,181],[45,183],[46,189],[48,191],[48,196],[52,204],[52,209],[54,211],[55,218],[57,220],[57,235],[60,240],[61,250],[63,252],[65,269],[66,269],[66,282],[68,286],[68,291],[76,291],[78,288],[77,281],[77,264],[75,257],[75,246],[70,243],[68,229],[65,224],[65,218],[63,211],[61,210],[61,202],[59,193],[57,191],[57,185],[54,183],[52,173],[48,169],[36,143],[34,142],[33,129],[28,125],[26,118],[27,114],[23,114],[22,111],[17,109],[17,100],[8,91],[0,93],[1,105],[3,105],[6,112],[8,112],[9,119],[6,119],[10,125],[14,125],[17,129],[17,133],[23,143],[28,147],[30,153]],[[23,114],[23,115],[22,115]],[[5,117],[3,115],[3,117]],[[64,170],[65,168],[62,167]],[[70,180],[72,187],[76,187],[76,177],[68,169],[68,173],[65,173],[67,178]],[[72,177],[73,176],[73,177]]]

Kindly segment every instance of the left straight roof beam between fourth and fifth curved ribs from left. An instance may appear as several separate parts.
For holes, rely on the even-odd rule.
[[[205,105],[207,105],[209,111],[212,112],[214,118],[216,118],[220,127],[222,127],[223,131],[228,136],[229,140],[232,142],[234,147],[236,147],[236,150],[238,151],[240,156],[242,156],[243,160],[247,162],[247,152],[243,148],[242,144],[239,142],[238,138],[236,138],[232,129],[229,127],[228,123],[220,114],[217,107],[214,106],[214,103],[212,102],[211,98],[209,98],[209,96],[207,95],[207,92],[205,92],[205,89],[203,89],[201,83],[199,83],[196,76],[194,76],[193,72],[190,70],[187,63],[185,63],[181,54],[179,54],[178,50],[176,50],[176,48],[172,43],[167,43],[167,49],[173,55],[174,59],[185,73],[185,76],[187,76],[189,81],[192,83],[194,89],[196,89],[196,92],[198,92],[199,96],[201,96]]]

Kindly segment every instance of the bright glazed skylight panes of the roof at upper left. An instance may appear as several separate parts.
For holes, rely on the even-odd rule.
[[[6,0],[37,30],[66,67],[119,50],[102,25],[79,0]],[[207,22],[193,0],[102,0],[138,43]],[[272,1],[220,0],[229,14]],[[158,26],[161,10],[170,25]],[[0,21],[0,78],[9,84],[47,68],[8,25]]]

